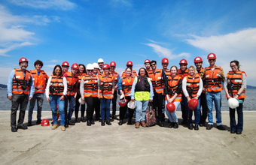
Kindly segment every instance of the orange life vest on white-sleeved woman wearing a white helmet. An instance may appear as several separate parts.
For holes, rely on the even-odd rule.
[[[93,74],[92,77],[86,75],[84,80],[84,97],[97,97],[98,96],[98,80],[97,76]]]

